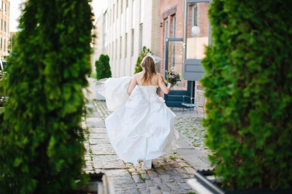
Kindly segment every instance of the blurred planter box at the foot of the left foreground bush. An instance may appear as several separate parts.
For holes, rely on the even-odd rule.
[[[114,194],[112,182],[104,173],[90,174],[90,181],[83,188],[69,194]]]

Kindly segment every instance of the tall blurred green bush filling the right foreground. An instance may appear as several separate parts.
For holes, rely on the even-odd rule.
[[[292,1],[215,0],[202,61],[206,144],[233,189],[292,183]]]

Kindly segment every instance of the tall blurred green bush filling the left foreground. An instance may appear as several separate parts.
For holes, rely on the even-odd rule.
[[[28,0],[0,129],[0,194],[65,194],[86,177],[81,117],[90,0]]]

